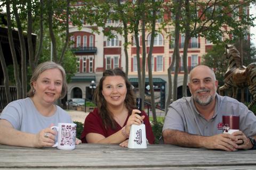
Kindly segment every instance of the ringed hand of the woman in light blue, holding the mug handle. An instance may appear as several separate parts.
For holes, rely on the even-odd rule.
[[[53,124],[51,124],[53,126]],[[50,127],[51,127],[50,126]],[[35,135],[34,146],[36,148],[51,147],[55,143],[56,131],[45,128]]]

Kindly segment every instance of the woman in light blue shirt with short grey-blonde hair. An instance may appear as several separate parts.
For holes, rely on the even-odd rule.
[[[66,73],[54,62],[39,64],[30,79],[30,91],[25,99],[9,103],[0,116],[0,143],[22,147],[51,147],[56,132],[50,127],[58,123],[73,123],[70,116],[55,101],[67,92]],[[76,144],[81,140],[76,140]]]

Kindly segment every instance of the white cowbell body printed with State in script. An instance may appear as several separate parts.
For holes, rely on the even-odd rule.
[[[147,148],[145,124],[131,125],[128,148]]]

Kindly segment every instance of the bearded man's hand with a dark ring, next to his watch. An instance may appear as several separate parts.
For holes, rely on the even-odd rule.
[[[247,138],[242,131],[233,132],[232,135],[234,135],[234,137],[237,139],[236,143],[238,145],[238,149],[248,150],[253,147],[250,139]]]

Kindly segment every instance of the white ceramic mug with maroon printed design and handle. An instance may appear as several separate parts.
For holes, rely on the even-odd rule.
[[[62,150],[73,150],[76,147],[76,124],[58,123],[58,126],[52,126],[51,129],[58,131],[57,142],[52,147]]]

